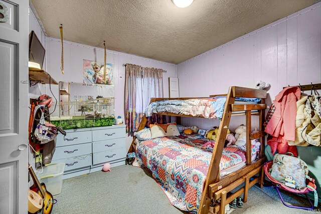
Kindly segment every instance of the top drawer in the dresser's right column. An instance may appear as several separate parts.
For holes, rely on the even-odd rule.
[[[100,129],[92,131],[92,141],[125,137],[125,128]]]

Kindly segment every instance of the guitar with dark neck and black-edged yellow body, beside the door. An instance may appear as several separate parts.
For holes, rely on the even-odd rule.
[[[44,183],[39,183],[39,180],[38,180],[38,178],[37,178],[37,176],[36,176],[36,174],[30,164],[28,166],[28,169],[29,169],[32,179],[34,180],[34,185],[32,185],[30,187],[30,189],[36,189],[36,192],[43,199],[44,214],[50,214],[52,211],[54,198],[53,198],[52,194],[49,191],[47,191],[46,185]]]

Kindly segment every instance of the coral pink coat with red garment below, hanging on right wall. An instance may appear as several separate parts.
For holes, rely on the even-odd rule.
[[[287,141],[295,140],[296,101],[300,95],[298,87],[286,87],[273,101],[275,111],[265,127],[265,132],[272,136],[267,144],[271,146],[273,154],[277,150],[280,154],[291,152],[297,156],[296,147],[289,146]]]

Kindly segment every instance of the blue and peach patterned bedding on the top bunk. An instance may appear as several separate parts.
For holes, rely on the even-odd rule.
[[[145,109],[145,115],[152,113],[170,112],[175,114],[191,115],[209,119],[221,119],[223,116],[226,97],[217,96],[189,100],[162,100],[153,102]],[[259,102],[258,98],[237,97],[235,101]]]

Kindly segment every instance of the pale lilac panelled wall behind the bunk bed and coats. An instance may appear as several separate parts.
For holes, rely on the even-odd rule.
[[[178,78],[181,97],[227,93],[232,85],[254,88],[258,80],[266,81],[271,84],[268,104],[284,86],[321,83],[321,3],[179,64]],[[197,118],[183,122],[201,128],[219,124]],[[245,117],[235,116],[231,123],[235,128]]]

